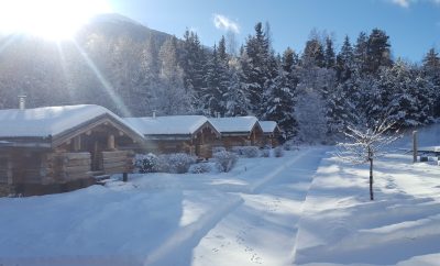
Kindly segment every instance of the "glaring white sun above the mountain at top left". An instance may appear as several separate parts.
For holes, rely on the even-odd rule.
[[[0,33],[26,33],[53,41],[72,38],[99,13],[111,12],[106,0],[0,0]]]

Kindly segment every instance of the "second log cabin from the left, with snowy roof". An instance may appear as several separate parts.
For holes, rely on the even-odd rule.
[[[125,118],[144,135],[142,153],[187,153],[199,158],[212,156],[212,144],[220,132],[204,115]]]

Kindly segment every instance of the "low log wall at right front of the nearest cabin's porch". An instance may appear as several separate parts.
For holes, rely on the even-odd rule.
[[[134,153],[131,151],[102,152],[102,167],[107,175],[132,173]]]

